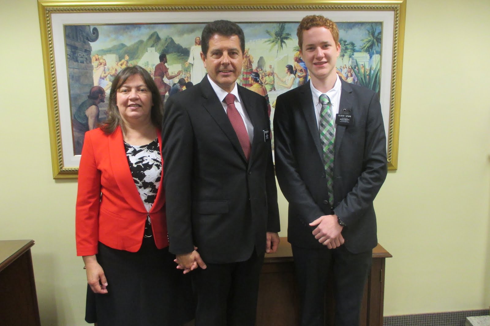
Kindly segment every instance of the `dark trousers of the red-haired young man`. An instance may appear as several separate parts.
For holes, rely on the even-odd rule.
[[[359,325],[372,250],[352,254],[344,245],[336,249],[293,245],[292,249],[301,299],[301,326],[325,325],[325,287],[329,277],[334,278],[335,325]],[[333,275],[329,275],[331,266]]]

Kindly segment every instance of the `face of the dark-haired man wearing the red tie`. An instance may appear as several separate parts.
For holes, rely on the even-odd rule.
[[[209,78],[219,87],[230,92],[235,87],[238,76],[242,73],[243,53],[237,35],[213,35],[209,39],[206,55],[201,52],[201,59],[208,71]]]

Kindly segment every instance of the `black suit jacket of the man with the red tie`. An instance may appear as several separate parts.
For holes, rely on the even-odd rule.
[[[266,100],[238,86],[254,127],[249,161],[208,77],[169,97],[162,154],[170,251],[198,247],[210,263],[264,255],[266,232],[279,231]]]

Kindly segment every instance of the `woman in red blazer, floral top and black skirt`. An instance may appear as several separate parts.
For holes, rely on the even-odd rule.
[[[177,326],[193,318],[190,280],[168,251],[158,88],[140,66],[114,79],[107,121],[85,134],[76,250],[87,272],[86,321]]]

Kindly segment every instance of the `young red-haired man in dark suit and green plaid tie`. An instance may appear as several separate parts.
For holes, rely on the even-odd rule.
[[[381,106],[376,93],[337,76],[341,45],[334,22],[307,16],[297,35],[311,79],[277,97],[274,150],[289,201],[301,325],[324,325],[333,266],[335,325],[355,326],[377,244],[373,200],[387,174]]]

